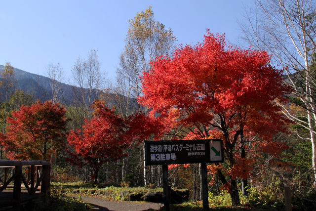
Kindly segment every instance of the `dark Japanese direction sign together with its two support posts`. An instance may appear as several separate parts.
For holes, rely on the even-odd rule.
[[[168,165],[201,164],[203,210],[208,210],[208,187],[206,163],[224,161],[221,139],[145,141],[145,164],[162,165],[164,208],[170,210],[168,189]]]

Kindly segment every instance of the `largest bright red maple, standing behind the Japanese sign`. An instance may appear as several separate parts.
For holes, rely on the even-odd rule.
[[[181,46],[151,65],[143,72],[139,101],[152,117],[159,114],[166,133],[182,128],[183,139],[223,139],[228,169],[215,172],[233,205],[239,205],[236,177],[245,178],[251,170],[243,133],[258,135],[270,149],[276,146],[273,135],[285,131],[286,120],[274,104],[289,92],[282,71],[270,65],[267,52],[233,47],[224,35],[208,31],[202,43]]]

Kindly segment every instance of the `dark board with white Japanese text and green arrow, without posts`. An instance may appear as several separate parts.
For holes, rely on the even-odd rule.
[[[145,164],[195,164],[223,162],[220,139],[145,141]]]

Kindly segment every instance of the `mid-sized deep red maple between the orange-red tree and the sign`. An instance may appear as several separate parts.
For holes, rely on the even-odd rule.
[[[124,150],[131,144],[137,146],[152,131],[153,123],[143,114],[136,113],[123,120],[115,109],[106,107],[103,101],[92,105],[94,115],[90,121],[85,120],[82,131],[70,131],[67,137],[70,161],[78,166],[88,165],[93,169],[94,183],[98,183],[98,173],[102,164],[116,161],[127,156]]]

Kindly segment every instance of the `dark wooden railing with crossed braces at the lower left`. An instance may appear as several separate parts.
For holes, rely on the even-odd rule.
[[[25,167],[24,173],[23,168]],[[19,207],[21,202],[48,196],[50,192],[50,164],[47,161],[0,161],[4,175],[0,178],[0,207]],[[12,176],[8,176],[12,169]],[[24,174],[27,174],[25,176]],[[6,190],[12,188],[13,191]],[[22,185],[23,182],[23,185]],[[22,192],[21,189],[27,190]],[[39,190],[40,188],[40,190]],[[12,195],[13,192],[13,195]]]

